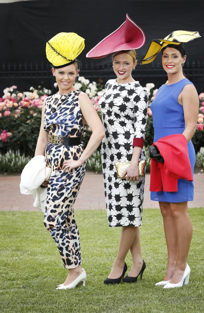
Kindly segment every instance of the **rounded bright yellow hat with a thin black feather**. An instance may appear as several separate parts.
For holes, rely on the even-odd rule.
[[[76,33],[58,33],[46,43],[46,57],[55,67],[60,68],[75,62],[83,51],[84,38]]]

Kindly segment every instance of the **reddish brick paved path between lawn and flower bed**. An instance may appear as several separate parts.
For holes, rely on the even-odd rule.
[[[150,200],[150,175],[145,177],[144,208],[158,208],[157,201]],[[20,176],[0,177],[0,211],[38,211],[33,207],[33,196],[22,195],[19,189]],[[194,174],[194,201],[188,203],[189,208],[204,207],[203,187],[204,174]],[[105,209],[103,176],[101,174],[85,174],[75,209]]]

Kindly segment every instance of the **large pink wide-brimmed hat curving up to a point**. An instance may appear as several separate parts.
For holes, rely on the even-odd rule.
[[[102,59],[114,52],[139,49],[144,43],[145,34],[142,28],[126,14],[126,21],[92,48],[86,57]]]

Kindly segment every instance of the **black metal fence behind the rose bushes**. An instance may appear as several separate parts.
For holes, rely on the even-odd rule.
[[[189,80],[191,80],[198,93],[204,92],[204,60],[186,61],[184,71]],[[90,81],[97,81],[101,78],[104,83],[115,78],[112,63],[104,63],[103,60],[91,60],[81,64],[80,75]],[[148,65],[138,64],[133,71],[135,80],[139,80],[142,86],[147,83],[154,83],[155,88],[159,88],[167,80],[167,74],[160,63],[151,63]],[[8,63],[0,66],[0,91],[3,94],[3,89],[17,85],[18,90],[27,91],[30,86],[37,87],[41,85],[46,89],[51,89],[54,93],[54,85],[49,63]]]

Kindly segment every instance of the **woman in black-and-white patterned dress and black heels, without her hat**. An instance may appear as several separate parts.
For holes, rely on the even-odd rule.
[[[133,265],[124,281],[136,281],[145,269],[138,228],[142,225],[144,177],[139,178],[137,164],[139,160],[146,159],[142,147],[147,123],[148,95],[139,82],[132,78],[131,72],[136,64],[135,50],[115,53],[113,69],[117,78],[108,80],[105,93],[99,100],[105,128],[102,168],[107,218],[110,227],[122,227],[118,254],[105,284],[121,281],[127,270],[124,262],[129,250]],[[117,178],[114,163],[127,161],[131,164],[124,172],[126,180]]]

